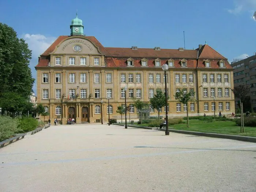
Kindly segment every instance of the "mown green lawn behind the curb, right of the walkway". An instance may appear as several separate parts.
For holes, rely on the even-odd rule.
[[[142,126],[147,125],[148,124],[142,124]],[[213,120],[212,122],[207,122],[202,120],[189,120],[189,128],[187,129],[187,121],[184,120],[183,124],[171,125],[169,126],[169,129],[256,137],[256,127],[244,127],[245,133],[240,133],[240,126],[236,126],[236,123],[234,121]]]

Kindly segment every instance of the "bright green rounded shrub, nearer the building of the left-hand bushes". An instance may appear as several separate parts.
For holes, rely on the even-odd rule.
[[[38,121],[32,117],[22,117],[19,119],[18,128],[20,133],[33,131],[38,126]]]

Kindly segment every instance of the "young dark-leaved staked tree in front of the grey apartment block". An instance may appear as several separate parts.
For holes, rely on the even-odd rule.
[[[246,102],[245,99],[248,99],[248,96],[246,96],[249,92],[250,89],[246,85],[239,85],[237,87],[234,87],[234,89],[231,89],[232,92],[234,93],[236,98],[239,98],[239,104],[240,104],[240,109],[241,109],[241,129],[240,132],[244,133],[244,110],[243,110],[243,102]]]

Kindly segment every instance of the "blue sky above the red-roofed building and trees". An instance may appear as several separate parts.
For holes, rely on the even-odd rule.
[[[256,51],[256,0],[8,0],[0,6],[0,22],[33,51],[34,78],[38,56],[59,35],[70,35],[76,9],[84,34],[106,47],[177,49],[184,47],[185,31],[186,49],[206,41],[230,62]]]

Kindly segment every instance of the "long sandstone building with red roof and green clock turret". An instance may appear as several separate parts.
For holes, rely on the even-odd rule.
[[[133,98],[149,103],[157,89],[165,92],[163,64],[169,65],[169,116],[183,116],[186,110],[194,115],[234,111],[233,69],[209,45],[199,45],[196,50],[108,48],[95,37],[83,34],[82,20],[77,16],[70,29],[71,35],[59,36],[41,54],[35,67],[37,102],[44,105],[52,121],[57,118],[67,123],[67,118],[74,117],[76,123],[107,122],[108,110],[110,118],[120,119],[116,110],[124,106],[125,92],[127,116],[137,118]],[[188,106],[179,103],[174,98],[178,91],[195,92],[195,101]],[[150,116],[157,115],[151,105],[149,110]],[[159,110],[164,116],[165,107]]]

